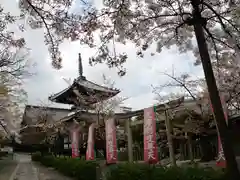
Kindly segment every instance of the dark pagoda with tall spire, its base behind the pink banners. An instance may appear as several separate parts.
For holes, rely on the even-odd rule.
[[[55,103],[73,105],[73,112],[71,115],[69,114],[69,116],[66,117],[67,119],[70,118],[70,121],[68,120],[66,122],[68,131],[71,131],[71,127],[74,126],[75,122],[84,122],[84,125],[80,123],[82,124],[80,132],[80,151],[84,151],[86,148],[86,135],[88,127],[91,123],[98,124],[98,127],[95,130],[96,148],[105,149],[105,138],[102,136],[105,129],[104,123],[99,123],[99,119],[96,118],[96,114],[94,117],[89,116],[85,118],[80,117],[80,114],[86,113],[88,110],[92,110],[94,104],[117,95],[120,90],[100,86],[87,80],[86,77],[83,76],[82,58],[80,53],[78,56],[78,63],[78,78],[74,79],[73,83],[68,88],[50,96],[49,100]],[[70,139],[68,134],[68,144],[69,143]]]

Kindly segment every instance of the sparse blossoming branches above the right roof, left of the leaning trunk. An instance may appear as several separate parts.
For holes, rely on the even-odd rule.
[[[208,117],[212,114],[212,112],[209,108],[210,103],[207,87],[203,79],[194,78],[189,74],[181,74],[179,76],[175,76],[174,73],[172,75],[168,73],[162,73],[162,75],[168,77],[170,80],[165,84],[160,84],[152,87],[153,93],[156,95],[156,99],[160,103],[165,102],[166,100],[184,97],[186,101],[190,100],[195,103],[195,106],[192,105],[191,107],[195,112],[191,112],[191,110],[188,109],[189,107],[186,107],[185,111],[187,114],[199,114],[198,118],[202,120],[208,120]],[[164,91],[170,91],[170,93],[163,94],[162,92]],[[174,117],[174,113],[172,116]]]

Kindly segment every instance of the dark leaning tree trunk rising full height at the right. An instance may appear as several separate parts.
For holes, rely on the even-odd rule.
[[[199,10],[200,0],[191,0],[191,4],[193,6],[193,18],[194,18],[193,26],[195,36],[197,39],[202,66],[208,86],[208,92],[213,107],[213,113],[216,119],[216,125],[218,127],[224,155],[226,158],[227,173],[229,175],[229,179],[239,180],[240,174],[238,171],[238,165],[233,151],[233,144],[231,142],[230,133],[225,122],[224,112],[221,105],[221,100],[219,97],[219,92],[216,85],[216,80],[213,74],[212,64],[207,49],[207,43],[203,32],[202,26],[205,26],[204,25],[205,22]]]

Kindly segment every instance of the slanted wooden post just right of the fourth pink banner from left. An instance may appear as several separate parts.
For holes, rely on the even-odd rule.
[[[167,140],[168,140],[168,147],[169,147],[169,156],[170,156],[170,162],[172,166],[176,166],[176,159],[175,159],[175,153],[174,153],[174,145],[173,145],[173,139],[172,139],[172,123],[169,120],[168,111],[165,110],[165,125],[166,125],[166,131],[167,131]]]

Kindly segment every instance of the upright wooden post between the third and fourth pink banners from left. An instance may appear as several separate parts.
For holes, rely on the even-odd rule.
[[[128,142],[128,161],[133,162],[133,147],[132,147],[132,129],[130,126],[131,119],[125,121],[125,130],[127,132],[127,142]]]

